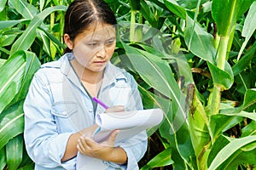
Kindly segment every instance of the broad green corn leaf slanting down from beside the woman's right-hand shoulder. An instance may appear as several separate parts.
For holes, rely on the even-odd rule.
[[[172,77],[172,70],[170,69],[166,61],[159,59],[157,56],[149,54],[146,51],[132,48],[125,43],[122,44],[125,48],[128,59],[131,61],[131,64],[133,65],[135,70],[140,74],[141,77],[143,77],[143,80],[147,82],[152,88],[158,90],[161,94],[165,95],[167,98],[172,99],[173,97],[173,99],[178,104],[180,104],[180,109],[183,110],[181,101],[175,96],[175,94],[180,92],[180,90],[177,87],[177,82]],[[177,96],[180,95],[182,94],[179,94]]]

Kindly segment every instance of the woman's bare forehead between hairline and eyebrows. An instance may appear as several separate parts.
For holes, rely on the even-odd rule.
[[[104,40],[115,37],[115,27],[108,24],[92,24],[79,36],[85,40]]]

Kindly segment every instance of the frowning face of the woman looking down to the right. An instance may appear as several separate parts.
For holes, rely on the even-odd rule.
[[[103,71],[113,55],[116,44],[115,27],[91,25],[73,40],[73,54],[84,69]]]

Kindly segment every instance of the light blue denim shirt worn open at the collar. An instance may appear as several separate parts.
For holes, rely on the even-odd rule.
[[[35,162],[35,169],[76,168],[76,157],[61,162],[72,133],[95,123],[95,114],[104,112],[97,105],[94,113],[90,96],[84,90],[73,71],[69,60],[73,54],[65,54],[61,59],[41,66],[32,79],[24,103],[24,138],[28,155]],[[126,71],[108,63],[99,92],[108,106],[124,105],[125,111],[142,110],[142,99],[137,90],[137,82]],[[147,150],[146,132],[138,133],[116,146],[122,147],[127,156],[126,165],[108,164],[108,169],[138,169],[139,161]]]

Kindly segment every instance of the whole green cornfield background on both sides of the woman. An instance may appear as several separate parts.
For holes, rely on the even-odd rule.
[[[106,0],[119,22],[112,62],[137,79],[148,129],[141,169],[255,169],[253,0]],[[0,2],[0,169],[32,169],[23,109],[39,66],[59,59],[71,1]]]

